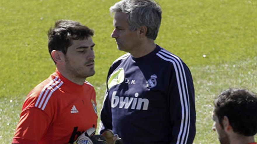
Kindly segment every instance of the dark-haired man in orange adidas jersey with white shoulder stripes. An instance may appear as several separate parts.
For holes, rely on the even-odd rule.
[[[95,74],[93,34],[71,20],[58,20],[48,31],[56,71],[27,95],[12,143],[73,143],[97,126],[95,90],[85,81]]]

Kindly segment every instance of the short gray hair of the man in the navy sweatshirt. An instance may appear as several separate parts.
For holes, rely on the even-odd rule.
[[[146,26],[147,38],[155,40],[161,25],[162,10],[153,0],[121,0],[110,7],[111,13],[123,12],[128,15],[129,28],[132,31]]]

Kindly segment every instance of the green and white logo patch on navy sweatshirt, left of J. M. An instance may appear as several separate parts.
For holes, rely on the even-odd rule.
[[[124,69],[119,68],[118,70],[113,72],[110,78],[108,79],[108,82],[107,82],[108,88],[111,88],[112,86],[122,83],[124,81],[124,78],[125,78]]]

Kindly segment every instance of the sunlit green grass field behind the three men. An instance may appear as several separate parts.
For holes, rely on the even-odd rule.
[[[58,19],[72,19],[95,30],[98,112],[116,49],[109,7],[117,0],[0,1],[0,143],[10,143],[29,91],[55,71],[47,31]],[[218,144],[211,130],[212,102],[223,89],[257,92],[256,0],[157,0],[163,17],[156,43],[180,56],[195,84],[195,144]],[[203,56],[205,55],[205,57]]]

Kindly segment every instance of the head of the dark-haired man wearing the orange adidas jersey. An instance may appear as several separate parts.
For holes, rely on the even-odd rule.
[[[58,20],[48,31],[48,51],[66,78],[75,82],[95,74],[93,35],[93,30],[72,20]]]

